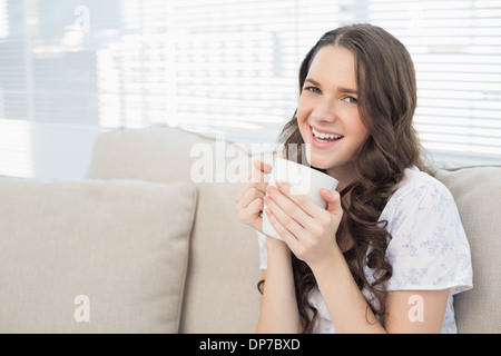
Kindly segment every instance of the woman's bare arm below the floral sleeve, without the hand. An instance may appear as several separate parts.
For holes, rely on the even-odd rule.
[[[340,253],[313,273],[338,333],[440,333],[449,297],[442,290],[389,291],[385,327],[377,322]]]

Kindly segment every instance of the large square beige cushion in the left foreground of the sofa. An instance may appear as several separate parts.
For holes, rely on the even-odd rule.
[[[0,333],[176,333],[197,190],[0,179]]]

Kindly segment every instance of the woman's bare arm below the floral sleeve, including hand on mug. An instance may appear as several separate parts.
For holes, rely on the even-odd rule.
[[[269,189],[269,188],[268,188]],[[271,188],[269,221],[291,250],[312,268],[331,318],[341,333],[432,333],[440,332],[445,310],[448,289],[392,291],[387,298],[386,328],[377,322],[360,291],[334,238],[342,217],[338,194],[322,195],[327,209],[305,200],[305,196],[284,184]],[[307,198],[306,198],[307,199]],[[308,228],[305,228],[308,227]],[[411,293],[411,295],[410,295]],[[409,317],[409,298],[421,297],[424,317],[416,323]]]

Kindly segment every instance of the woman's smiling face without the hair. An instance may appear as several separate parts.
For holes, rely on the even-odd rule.
[[[310,164],[334,177],[351,170],[355,152],[369,136],[357,98],[353,53],[337,46],[321,48],[302,88],[297,123]]]

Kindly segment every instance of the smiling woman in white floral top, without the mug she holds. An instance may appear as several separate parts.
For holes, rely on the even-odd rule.
[[[472,288],[470,248],[412,126],[411,57],[385,30],[325,33],[299,70],[279,140],[338,180],[322,209],[256,161],[236,210],[259,231],[259,333],[455,333],[452,297]],[[286,154],[285,154],[286,155]],[[266,195],[267,192],[267,195]],[[262,210],[282,240],[262,234]]]

